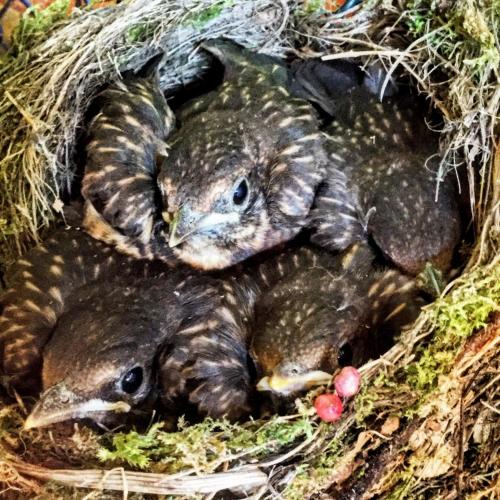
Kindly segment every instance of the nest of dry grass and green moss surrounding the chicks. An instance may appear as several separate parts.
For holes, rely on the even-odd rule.
[[[469,179],[474,237],[462,249],[462,274],[362,367],[361,392],[336,424],[319,422],[309,394],[294,415],[240,424],[181,421],[171,430],[153,418],[142,432],[22,431],[26,402],[4,394],[0,483],[13,497],[88,494],[78,488],[99,498],[102,490],[297,499],[498,493],[498,4],[373,0],[347,13],[334,4],[132,0],[71,11],[56,0],[25,15],[0,66],[1,263],[36,241],[78,190],[78,138],[102,86],[161,49],[162,85],[175,92],[206,69],[197,43],[226,36],[277,56],[378,59],[389,75],[411,76],[444,116],[440,174],[466,170]]]

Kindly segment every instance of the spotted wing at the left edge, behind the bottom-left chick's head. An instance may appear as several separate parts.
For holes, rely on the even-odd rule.
[[[0,298],[0,363],[14,385],[33,388],[26,376],[40,365],[74,290],[125,271],[127,259],[118,261],[116,255],[79,228],[59,228],[7,271]]]

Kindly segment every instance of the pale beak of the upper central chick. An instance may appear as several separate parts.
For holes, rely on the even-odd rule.
[[[165,218],[165,217],[164,217]],[[237,213],[222,214],[212,212],[203,214],[184,206],[174,214],[170,223],[170,238],[168,245],[176,247],[187,240],[192,234],[201,231],[210,231],[216,226],[238,222]]]

